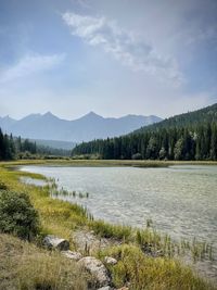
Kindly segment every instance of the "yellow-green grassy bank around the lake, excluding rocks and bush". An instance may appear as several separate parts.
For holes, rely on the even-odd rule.
[[[171,257],[170,251],[173,251],[173,245],[169,239],[165,240],[156,232],[150,230],[138,232],[130,227],[113,226],[102,220],[93,220],[81,206],[58,199],[51,199],[49,187],[41,188],[24,185],[20,181],[20,177],[22,176],[44,179],[43,176],[7,168],[8,166],[14,167],[22,164],[72,166],[107,166],[107,164],[111,166],[139,166],[139,164],[142,164],[143,166],[148,166],[150,164],[149,162],[61,161],[61,164],[56,163],[56,161],[10,162],[1,164],[0,181],[10,190],[25,192],[29,196],[31,203],[39,211],[42,234],[54,234],[72,241],[72,232],[74,230],[85,229],[94,230],[95,235],[118,241],[118,245],[95,252],[95,255],[102,260],[105,255],[112,255],[117,259],[118,263],[115,266],[108,266],[115,287],[129,283],[131,290],[215,289],[207,281],[196,277],[189,267],[181,265],[175,257]],[[161,164],[159,166],[170,165],[167,162],[151,162],[151,164],[153,166],[157,166],[158,164]],[[177,162],[173,164],[177,164]],[[207,163],[203,162],[203,164]],[[7,281],[12,282],[12,285],[17,283],[18,286],[21,285],[18,281],[22,281],[27,286],[15,289],[87,289],[89,278],[86,277],[86,274],[80,272],[76,264],[69,263],[58,253],[48,253],[33,244],[21,243],[17,239],[7,235],[1,235],[0,239],[1,256],[5,257],[10,253],[9,260],[0,259],[1,268],[3,268],[0,276],[0,289],[2,285],[2,289],[13,289],[12,287],[10,288],[10,283],[7,285]],[[71,244],[73,244],[73,241]],[[154,257],[144,254],[144,247],[146,245],[153,248],[154,251],[163,251],[162,256]],[[163,245],[165,245],[165,249]],[[23,263],[18,263],[20,260]],[[64,267],[66,270],[61,272]],[[34,268],[36,270],[33,270]],[[47,272],[48,275],[46,274]],[[80,277],[84,277],[84,279],[80,279]],[[60,280],[64,280],[64,283],[60,285]],[[75,285],[69,286],[72,280],[75,280]],[[76,285],[79,281],[82,281],[84,285]],[[52,288],[36,287],[37,285],[46,286],[46,283],[51,285]]]

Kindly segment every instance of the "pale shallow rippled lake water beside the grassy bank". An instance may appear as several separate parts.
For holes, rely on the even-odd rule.
[[[89,192],[88,199],[59,198],[87,206],[97,218],[137,227],[151,218],[175,239],[196,237],[217,249],[217,166],[24,166],[22,171],[55,178],[69,191]],[[209,272],[217,276],[215,263]]]

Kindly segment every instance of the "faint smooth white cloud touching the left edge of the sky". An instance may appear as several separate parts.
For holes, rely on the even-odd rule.
[[[52,70],[54,66],[59,65],[64,58],[64,54],[26,55],[11,67],[0,71],[0,83],[15,80],[31,74]]]

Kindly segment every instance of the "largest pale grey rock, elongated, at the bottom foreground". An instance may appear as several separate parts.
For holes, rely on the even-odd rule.
[[[78,265],[94,276],[99,287],[107,286],[110,283],[107,270],[100,260],[93,256],[86,256],[78,261]]]

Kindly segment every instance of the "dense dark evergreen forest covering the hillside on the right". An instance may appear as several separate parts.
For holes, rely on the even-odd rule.
[[[105,160],[217,160],[217,104],[142,127],[130,135],[84,142],[72,154]]]

